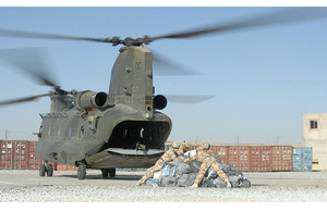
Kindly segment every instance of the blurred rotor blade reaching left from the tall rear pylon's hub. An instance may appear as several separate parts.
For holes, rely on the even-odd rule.
[[[85,41],[97,41],[97,42],[111,42],[109,38],[85,38],[75,36],[62,36],[43,33],[31,33],[23,30],[11,30],[0,29],[1,37],[16,37],[16,38],[43,38],[43,39],[57,39],[57,40],[85,40]]]

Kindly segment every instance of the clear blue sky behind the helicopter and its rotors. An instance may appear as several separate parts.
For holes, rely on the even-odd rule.
[[[0,8],[0,28],[82,37],[160,36],[276,8]],[[169,103],[169,140],[234,142],[237,137],[301,138],[302,114],[327,112],[327,18],[147,46],[199,76],[156,76],[156,93],[213,95]],[[0,38],[0,49],[44,47],[62,88],[108,91],[119,47],[86,41]],[[156,66],[154,66],[156,73]],[[0,62],[0,99],[49,91]],[[0,133],[37,132],[50,100],[0,108]],[[298,139],[299,140],[299,139]],[[300,140],[301,141],[301,140]]]

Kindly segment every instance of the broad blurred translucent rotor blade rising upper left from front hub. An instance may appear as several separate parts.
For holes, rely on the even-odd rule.
[[[3,49],[0,50],[0,59],[4,59],[20,71],[28,74],[41,83],[41,85],[56,87],[57,84],[51,79],[50,68],[44,58],[45,51],[38,48]]]

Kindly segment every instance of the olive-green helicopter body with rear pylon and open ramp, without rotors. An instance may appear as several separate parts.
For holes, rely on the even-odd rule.
[[[108,97],[52,96],[51,112],[40,115],[36,157],[92,169],[152,166],[171,130],[171,120],[154,108],[152,57],[144,47],[121,48]]]

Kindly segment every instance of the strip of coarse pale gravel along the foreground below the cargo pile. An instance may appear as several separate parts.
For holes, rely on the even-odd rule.
[[[326,202],[326,186],[227,188],[154,188],[108,186],[34,186],[3,189],[2,202]]]

